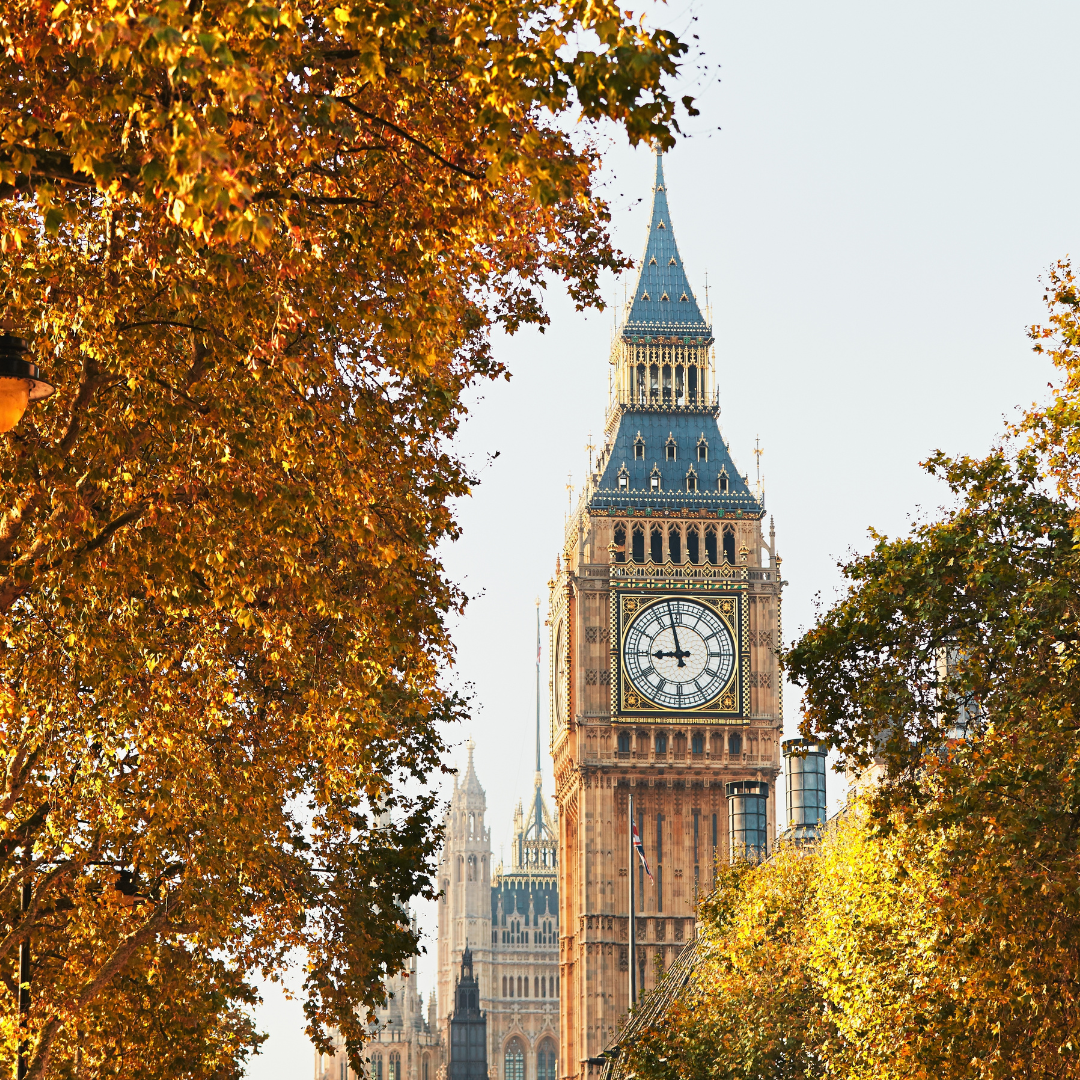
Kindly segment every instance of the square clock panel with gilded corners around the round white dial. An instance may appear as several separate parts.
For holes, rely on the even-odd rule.
[[[617,712],[739,713],[739,602],[620,596]]]

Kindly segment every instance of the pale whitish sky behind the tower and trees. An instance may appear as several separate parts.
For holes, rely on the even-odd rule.
[[[812,623],[814,596],[836,595],[837,561],[867,550],[867,527],[895,536],[946,501],[920,460],[984,453],[1017,406],[1045,394],[1051,370],[1025,327],[1042,318],[1040,274],[1080,256],[1080,4],[658,11],[699,35],[710,66],[688,79],[702,116],[665,159],[669,201],[702,301],[708,274],[720,427],[752,482],[756,436],[765,449],[791,642]],[[602,146],[615,238],[636,258],[652,160],[622,140]],[[476,707],[451,739],[459,764],[460,744],[476,741],[496,860],[532,785],[534,598],[546,603],[567,474],[581,484],[607,396],[610,310],[577,313],[557,286],[549,302],[545,334],[497,342],[513,379],[484,389],[459,449],[477,470],[500,456],[460,505],[464,535],[446,553],[475,597],[456,627],[456,679]],[[546,701],[543,715],[546,727]],[[791,690],[785,716],[793,734]],[[550,799],[546,739],[544,775]],[[433,953],[433,909],[420,916]],[[432,956],[419,967],[427,996]],[[268,990],[259,1018],[271,1037],[251,1080],[309,1080],[299,1002]]]

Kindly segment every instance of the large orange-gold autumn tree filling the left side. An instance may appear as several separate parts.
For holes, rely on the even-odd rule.
[[[166,996],[157,1071],[226,1075],[302,946],[355,1062],[464,707],[461,395],[623,265],[566,120],[670,145],[685,46],[606,0],[11,0],[0,43],[0,315],[57,387],[0,442],[5,1052],[26,940],[32,1080],[136,1075]]]

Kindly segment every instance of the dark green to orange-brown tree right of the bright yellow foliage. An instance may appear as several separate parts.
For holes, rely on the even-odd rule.
[[[931,913],[922,1001],[905,1023],[862,1018],[913,1061],[951,1048],[928,1076],[1069,1075],[1080,1045],[1080,300],[1067,265],[1047,299],[1031,336],[1065,376],[1050,404],[982,460],[934,456],[954,508],[847,566],[848,595],[788,657],[804,730],[883,771],[870,814],[890,873],[928,882],[913,906]]]

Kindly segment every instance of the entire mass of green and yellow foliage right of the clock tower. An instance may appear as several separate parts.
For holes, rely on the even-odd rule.
[[[648,1032],[639,1076],[1080,1075],[1068,265],[1047,299],[1032,338],[1064,375],[1050,404],[985,459],[935,456],[954,508],[878,537],[786,657],[804,733],[876,783],[820,845],[782,849],[713,902],[706,961],[678,1023]]]

